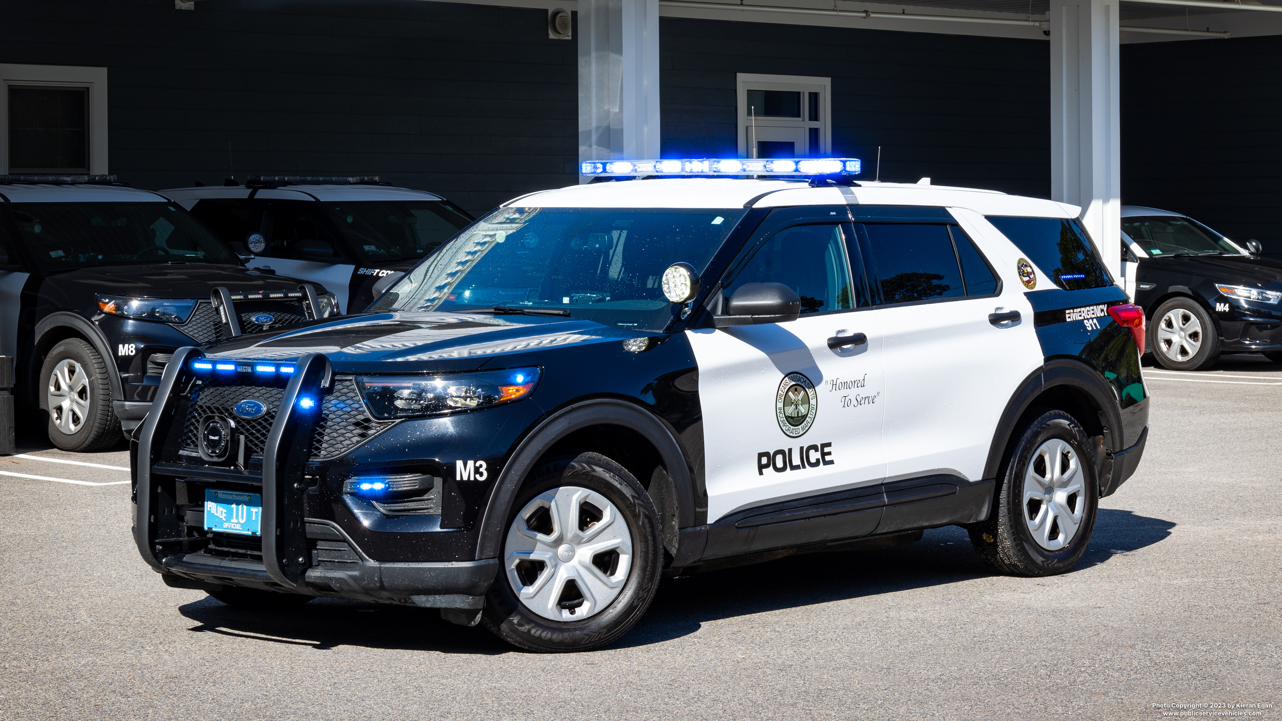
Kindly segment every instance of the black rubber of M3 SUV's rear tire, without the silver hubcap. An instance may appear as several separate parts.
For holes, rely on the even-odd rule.
[[[1070,540],[1061,548],[1047,549],[1035,538],[1029,521],[1026,520],[1033,516],[1035,507],[1040,512],[1041,505],[1033,499],[1026,503],[1024,475],[1042,444],[1056,439],[1067,443],[1078,459],[1081,505],[1077,505],[1078,498],[1073,496],[1068,496],[1065,503],[1078,508],[1081,521]],[[1077,564],[1091,541],[1099,508],[1099,479],[1090,446],[1086,431],[1063,411],[1046,411],[1024,426],[997,476],[1000,485],[996,490],[996,507],[987,521],[968,529],[970,544],[990,568],[1015,576],[1054,576],[1068,572]],[[1047,523],[1047,531],[1055,530],[1050,518],[1042,522]]]

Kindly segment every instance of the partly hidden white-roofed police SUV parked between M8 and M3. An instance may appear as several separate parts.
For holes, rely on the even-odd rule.
[[[246,266],[322,284],[364,310],[419,258],[473,221],[438,195],[377,177],[250,176],[245,186],[163,190]]]

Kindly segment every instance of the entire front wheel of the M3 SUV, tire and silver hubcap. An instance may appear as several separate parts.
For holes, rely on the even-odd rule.
[[[662,548],[654,503],[622,466],[596,453],[554,461],[514,504],[481,621],[528,650],[603,647],[650,607]]]

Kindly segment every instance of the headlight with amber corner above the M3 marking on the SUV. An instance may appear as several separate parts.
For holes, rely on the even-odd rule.
[[[374,416],[409,418],[519,400],[535,390],[540,375],[536,367],[440,376],[363,376],[356,385]]]

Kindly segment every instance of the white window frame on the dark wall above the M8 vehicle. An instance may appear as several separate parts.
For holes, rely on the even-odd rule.
[[[106,68],[0,63],[0,174],[9,173],[9,86],[88,89],[88,172],[106,174]]]

